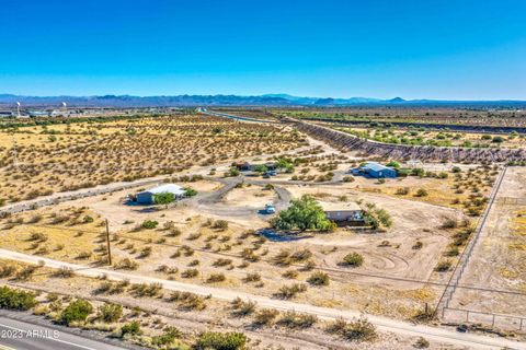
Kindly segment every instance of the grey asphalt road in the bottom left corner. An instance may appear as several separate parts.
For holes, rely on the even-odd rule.
[[[122,350],[126,348],[0,316],[0,349]]]

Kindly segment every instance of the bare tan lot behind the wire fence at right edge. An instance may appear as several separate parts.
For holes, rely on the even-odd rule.
[[[508,167],[451,307],[526,317],[526,168]],[[525,322],[526,325],[526,322]]]

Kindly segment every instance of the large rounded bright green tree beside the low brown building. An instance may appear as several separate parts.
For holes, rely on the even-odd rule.
[[[290,207],[282,210],[271,224],[277,230],[332,231],[335,228],[334,222],[325,218],[323,209],[309,195],[291,200]]]

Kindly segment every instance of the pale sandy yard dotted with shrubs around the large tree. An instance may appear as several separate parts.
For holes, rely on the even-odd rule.
[[[362,233],[343,228],[333,233],[306,234],[287,241],[265,240],[253,233],[253,230],[267,226],[266,219],[258,215],[256,211],[272,201],[274,191],[245,184],[242,188],[233,188],[217,203],[199,203],[199,198],[206,198],[222,186],[210,180],[188,184],[201,189],[203,197],[168,209],[125,206],[123,199],[129,192],[127,190],[70,201],[56,210],[87,207],[95,221],[107,219],[114,261],[118,265],[129,258],[137,264],[135,273],[197,284],[211,283],[262,295],[277,295],[283,287],[299,283],[308,285],[305,292],[294,296],[300,302],[410,318],[422,311],[424,303],[436,302],[442,287],[433,283],[444,282],[448,272],[435,272],[434,268],[451,237],[451,232],[443,229],[442,224],[446,219],[459,220],[464,215],[451,208],[356,190],[358,183],[283,187],[294,197],[311,194],[324,201],[374,202],[391,214],[395,223],[391,229]],[[236,214],[238,212],[239,215]],[[27,214],[20,217],[25,218],[25,224],[16,230],[27,230],[31,226]],[[141,229],[140,224],[147,220],[159,224],[153,230]],[[227,226],[218,224],[221,220],[228,221]],[[422,222],[426,223],[425,228],[422,228]],[[68,225],[58,225],[55,230],[61,229],[68,229]],[[96,230],[99,233],[91,236],[85,233],[82,238],[90,242],[81,243],[72,233],[69,241],[78,241],[87,248],[101,249],[100,232],[103,228]],[[7,237],[13,240],[15,235],[8,234]],[[421,246],[414,248],[418,242]],[[25,252],[30,243],[22,243],[9,247]],[[68,249],[69,246],[64,252]],[[254,252],[254,258],[244,255],[247,249]],[[304,252],[305,258],[277,264],[275,259],[282,252]],[[362,254],[363,266],[342,266],[343,257],[350,253]],[[76,254],[57,257],[78,262]],[[96,256],[93,254],[91,259],[95,260]],[[308,267],[309,264],[313,267]],[[197,276],[185,277],[188,270],[194,269]],[[330,285],[310,285],[308,280],[318,270],[329,275]],[[224,276],[225,280],[210,282],[210,277],[217,275]],[[248,276],[258,277],[255,281],[249,281]],[[389,298],[386,299],[386,295]]]

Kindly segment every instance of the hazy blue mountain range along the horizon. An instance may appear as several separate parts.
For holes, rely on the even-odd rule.
[[[442,101],[390,100],[369,97],[301,97],[287,94],[258,96],[239,95],[175,95],[175,96],[21,96],[0,94],[0,105],[7,107],[20,102],[24,106],[59,106],[66,102],[71,107],[178,107],[178,106],[473,106],[526,107],[526,101]]]

